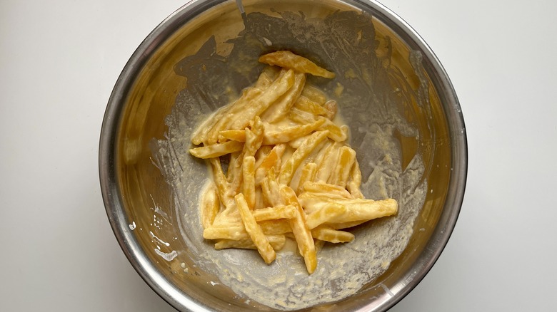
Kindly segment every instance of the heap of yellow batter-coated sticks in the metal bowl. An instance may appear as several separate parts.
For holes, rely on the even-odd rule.
[[[189,152],[208,160],[213,177],[201,197],[203,236],[216,249],[257,249],[266,264],[292,237],[311,274],[316,245],[352,241],[342,229],[396,214],[398,204],[363,198],[336,102],[306,88],[307,74],[334,73],[290,51],[259,61],[269,67],[255,85],[191,137],[200,146]]]

